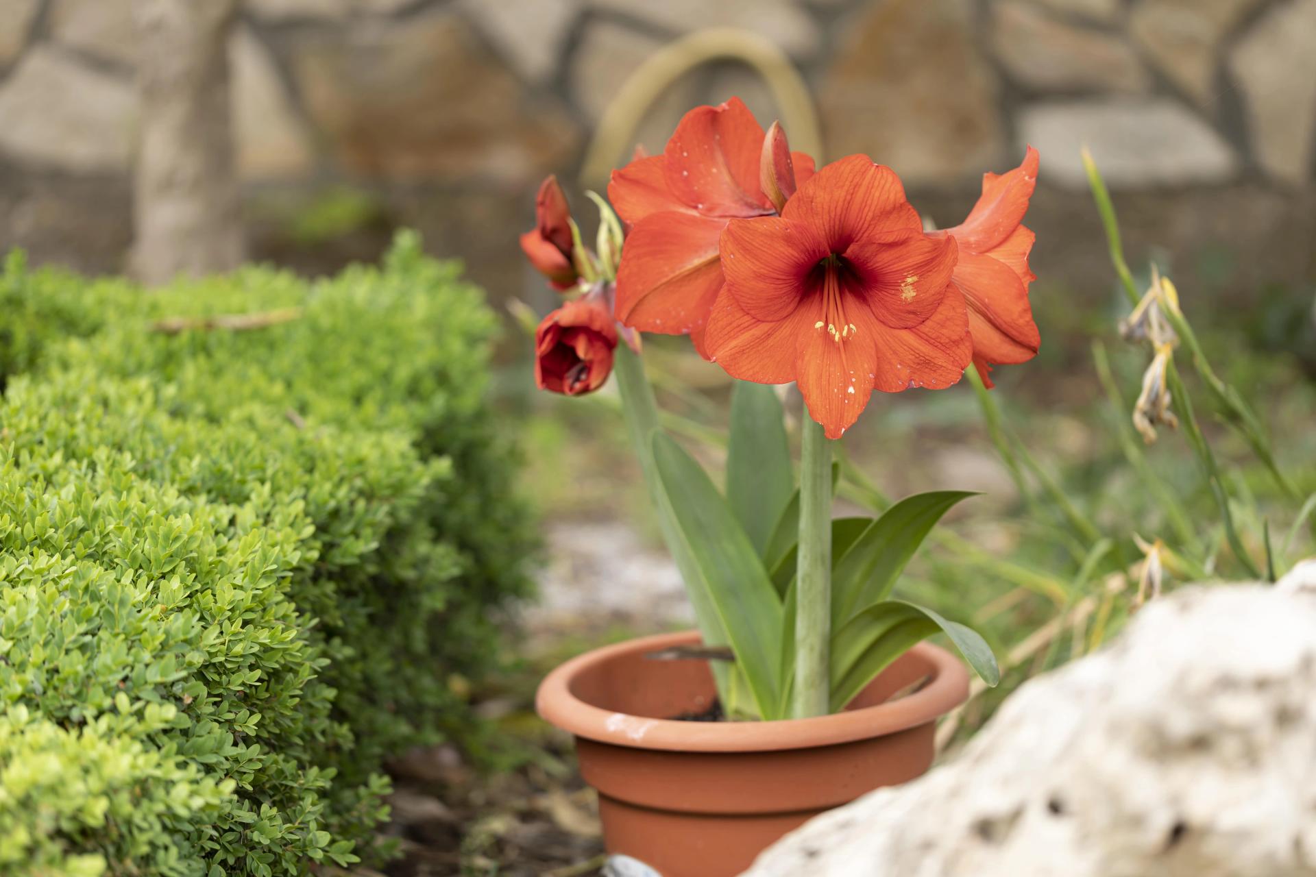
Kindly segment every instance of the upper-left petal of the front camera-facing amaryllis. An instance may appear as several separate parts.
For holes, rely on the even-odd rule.
[[[740,306],[774,322],[795,310],[808,273],[828,249],[807,224],[759,217],[728,222],[721,254],[722,276]]]

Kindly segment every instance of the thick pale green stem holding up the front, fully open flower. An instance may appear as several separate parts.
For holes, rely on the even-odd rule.
[[[795,590],[791,715],[826,715],[832,657],[832,447],[804,412],[800,442],[800,547]]]

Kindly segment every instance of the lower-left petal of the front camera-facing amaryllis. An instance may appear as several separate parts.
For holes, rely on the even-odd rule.
[[[755,320],[724,287],[708,316],[704,346],[732,377],[790,384],[795,380],[796,339],[808,323],[803,308],[776,322]]]

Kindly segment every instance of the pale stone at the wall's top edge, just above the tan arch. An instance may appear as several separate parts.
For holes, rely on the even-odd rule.
[[[674,33],[741,28],[767,37],[797,58],[811,55],[820,42],[813,17],[790,0],[592,0],[591,5],[644,18]]]

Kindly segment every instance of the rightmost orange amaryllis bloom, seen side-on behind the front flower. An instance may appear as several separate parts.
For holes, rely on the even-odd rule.
[[[969,217],[932,237],[951,237],[959,260],[950,283],[969,305],[969,331],[974,338],[974,366],[992,387],[994,364],[1024,363],[1037,355],[1041,337],[1028,304],[1028,270],[1033,233],[1021,225],[1037,184],[1037,150],[1008,174],[983,174],[983,193]]]

